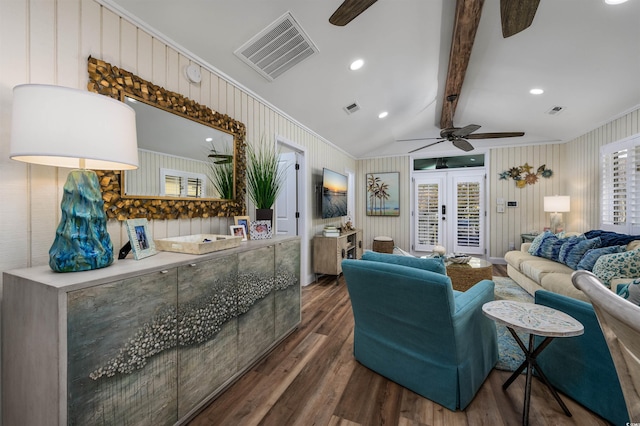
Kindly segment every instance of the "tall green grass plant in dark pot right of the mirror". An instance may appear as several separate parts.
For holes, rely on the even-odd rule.
[[[264,139],[257,146],[247,145],[247,191],[256,207],[256,220],[273,223],[273,205],[284,183],[285,169],[279,168],[275,145]]]

